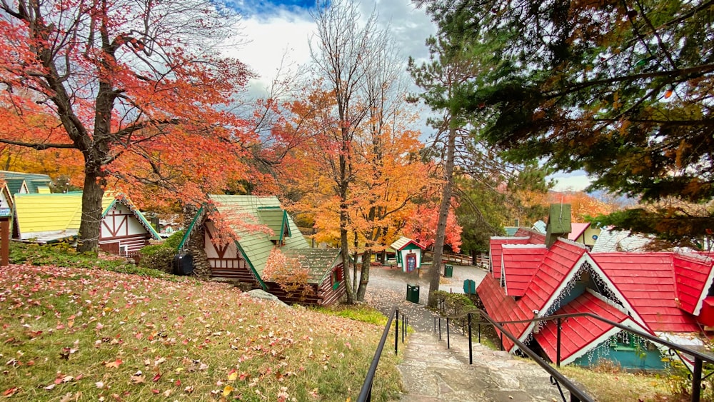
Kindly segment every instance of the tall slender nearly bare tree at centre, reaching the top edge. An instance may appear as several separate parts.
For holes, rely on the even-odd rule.
[[[330,170],[338,197],[340,238],[343,256],[348,256],[350,225],[348,197],[354,179],[353,140],[356,130],[370,119],[374,94],[365,91],[368,81],[376,77],[378,69],[387,68],[379,51],[386,44],[387,31],[377,26],[373,12],[364,22],[358,4],[340,0],[329,5],[318,4],[315,15],[317,33],[311,41],[313,73],[323,79],[333,101],[333,121],[328,126],[326,141],[333,144],[336,159]],[[349,267],[344,265],[345,278]],[[367,277],[365,277],[367,279]],[[366,283],[365,283],[366,285]],[[347,286],[348,302],[355,298]]]

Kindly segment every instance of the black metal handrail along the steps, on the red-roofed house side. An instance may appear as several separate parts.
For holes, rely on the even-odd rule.
[[[669,348],[670,351],[676,351],[676,353],[685,353],[692,357],[694,359],[693,363],[693,370],[690,369],[690,373],[692,376],[692,392],[691,392],[691,401],[693,402],[698,402],[700,401],[700,394],[701,394],[701,381],[708,377],[708,376],[702,376],[702,371],[703,371],[703,362],[708,362],[708,363],[714,363],[714,356],[706,355],[704,353],[701,353],[700,351],[695,351],[694,349],[688,348],[686,346],[681,346],[678,345],[677,343],[673,343],[670,341],[667,341],[662,338],[658,338],[656,336],[651,335],[650,333],[646,333],[643,331],[639,331],[638,329],[635,328],[630,328],[628,326],[624,326],[623,324],[617,323],[615,321],[611,321],[608,318],[600,317],[598,315],[595,315],[593,313],[571,313],[571,314],[558,314],[558,315],[553,315],[553,316],[546,316],[546,317],[536,317],[536,318],[531,318],[528,320],[516,320],[516,321],[495,321],[491,316],[486,313],[486,311],[481,310],[480,308],[475,308],[470,311],[465,311],[461,314],[455,315],[455,316],[446,316],[444,315],[443,318],[446,318],[446,327],[447,327],[447,345],[449,344],[448,340],[448,326],[449,326],[449,321],[451,319],[455,318],[465,318],[468,317],[468,347],[469,347],[469,363],[473,363],[473,359],[471,356],[471,314],[473,313],[478,313],[480,317],[483,317],[488,321],[488,323],[491,323],[496,330],[501,332],[501,350],[503,350],[503,335],[505,334],[506,337],[511,339],[513,343],[518,346],[518,348],[523,351],[523,353],[526,353],[535,363],[538,363],[541,367],[545,369],[545,371],[548,371],[551,376],[551,381],[555,381],[555,385],[558,385],[558,383],[563,383],[565,388],[568,388],[568,391],[570,391],[570,398],[571,401],[591,401],[591,399],[588,396],[585,396],[582,391],[580,391],[573,383],[570,383],[570,381],[562,376],[557,370],[555,370],[552,366],[550,366],[547,362],[543,360],[543,358],[540,358],[535,352],[533,352],[530,348],[528,348],[525,344],[523,344],[521,341],[518,340],[513,334],[509,331],[507,331],[505,328],[503,328],[504,324],[508,323],[532,323],[536,321],[557,321],[558,324],[558,335],[557,335],[557,361],[555,362],[558,367],[560,367],[560,323],[563,319],[567,318],[575,318],[575,317],[590,317],[594,318],[595,320],[602,321],[603,323],[607,323],[608,325],[615,326],[617,328],[622,329],[623,331],[627,331],[628,333],[632,333],[635,336],[639,336],[640,338],[645,338],[648,341],[652,341],[654,343],[659,343],[663,346],[666,346]],[[441,318],[441,316],[440,316]],[[479,341],[481,340],[481,323],[482,321],[479,319],[478,325],[479,325],[479,331],[478,331],[478,336],[479,336]],[[435,323],[435,329],[436,329],[436,323]],[[441,319],[439,320],[439,338],[441,339]],[[681,356],[680,356],[681,359]],[[688,367],[689,369],[689,367]],[[553,372],[557,373],[557,375],[553,375]],[[563,381],[563,379],[565,381]],[[570,388],[572,386],[573,388]],[[560,386],[558,386],[558,389],[560,390]],[[561,391],[561,396],[563,396],[563,393]],[[577,398],[577,399],[574,399]],[[563,400],[565,400],[565,396],[563,396]]]

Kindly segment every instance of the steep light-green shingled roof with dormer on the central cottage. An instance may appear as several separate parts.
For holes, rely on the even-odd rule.
[[[273,213],[267,212],[271,211],[271,208],[275,211],[281,211],[284,214],[290,233],[300,233],[298,226],[281,208],[280,201],[276,196],[209,195],[208,199],[211,202],[211,207],[215,208],[226,219],[226,223],[237,236],[238,248],[240,248],[243,257],[246,258],[246,261],[248,261],[248,264],[250,264],[258,277],[263,276],[263,269],[265,269],[268,255],[270,255],[275,246],[271,241],[271,237],[274,236],[273,233],[268,234],[265,230],[261,230],[266,228],[268,223],[261,221],[261,214],[258,213],[258,210],[266,211],[266,218],[274,217]],[[188,228],[187,232],[190,231],[191,228]],[[284,238],[281,251],[293,248],[308,248],[308,243],[302,235]]]

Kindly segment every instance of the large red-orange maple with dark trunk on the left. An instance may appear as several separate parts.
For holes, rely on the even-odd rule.
[[[0,143],[81,155],[81,250],[98,245],[107,186],[196,202],[226,178],[250,175],[244,146],[256,139],[228,112],[249,74],[216,51],[235,28],[229,9],[2,0],[0,10],[0,103],[10,119]],[[19,127],[36,135],[14,136]]]

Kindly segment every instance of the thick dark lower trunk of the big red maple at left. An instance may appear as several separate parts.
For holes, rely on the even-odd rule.
[[[77,251],[95,251],[99,248],[101,230],[101,199],[104,197],[105,180],[91,166],[84,168],[82,191],[82,219],[79,223],[79,246]]]

